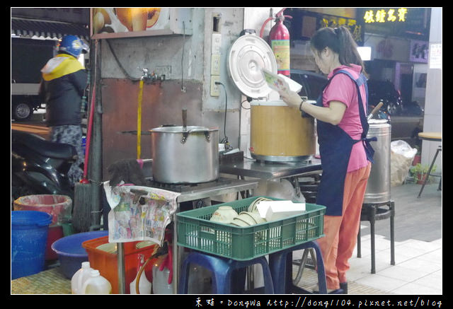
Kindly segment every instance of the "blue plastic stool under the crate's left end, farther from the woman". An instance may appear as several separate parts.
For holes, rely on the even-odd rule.
[[[207,255],[201,252],[190,252],[185,258],[181,268],[180,281],[178,284],[178,294],[188,293],[188,276],[189,265],[194,263],[205,267],[212,272],[212,293],[213,294],[231,294],[231,286],[234,281],[233,271],[236,269],[243,269],[254,264],[261,264],[263,267],[264,277],[264,292],[266,294],[273,294],[273,280],[270,276],[270,269],[268,261],[265,257],[256,257],[253,260],[236,261],[224,257],[217,257],[214,255]],[[241,286],[245,282],[245,273],[241,281]],[[236,284],[235,284],[236,285]]]

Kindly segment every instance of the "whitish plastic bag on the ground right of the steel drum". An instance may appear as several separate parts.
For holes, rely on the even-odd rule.
[[[401,140],[392,141],[390,149],[390,184],[391,187],[396,187],[403,185],[406,180],[417,149]]]

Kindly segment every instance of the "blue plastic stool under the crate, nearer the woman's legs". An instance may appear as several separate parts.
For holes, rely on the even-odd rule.
[[[275,294],[289,294],[294,289],[302,290],[304,293],[310,293],[292,284],[292,252],[308,248],[314,248],[316,251],[319,293],[327,293],[326,272],[324,271],[321,249],[316,241],[309,241],[269,255],[270,274],[273,278]]]

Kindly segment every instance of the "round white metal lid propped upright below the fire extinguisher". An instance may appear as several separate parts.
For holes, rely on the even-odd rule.
[[[243,95],[263,98],[272,91],[261,74],[261,68],[277,74],[277,62],[272,49],[257,35],[242,35],[229,50],[228,71]]]

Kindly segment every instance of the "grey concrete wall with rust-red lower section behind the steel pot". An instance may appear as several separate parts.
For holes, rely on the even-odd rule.
[[[180,110],[186,108],[189,125],[218,127],[220,140],[226,135],[232,147],[239,146],[241,93],[229,78],[226,59],[229,47],[243,30],[243,11],[243,8],[193,8],[192,35],[109,39],[118,62],[132,78],[142,76],[143,68],[167,73],[165,81],[144,85],[142,131],[162,124],[182,124]],[[222,35],[220,81],[224,87],[220,86],[219,96],[210,95],[213,16],[220,17],[218,32]],[[139,91],[139,83],[123,74],[105,39],[101,40],[101,78],[105,178],[111,163],[136,156],[136,136],[121,132],[137,129]],[[149,147],[149,136],[142,136],[142,158],[150,156]]]

